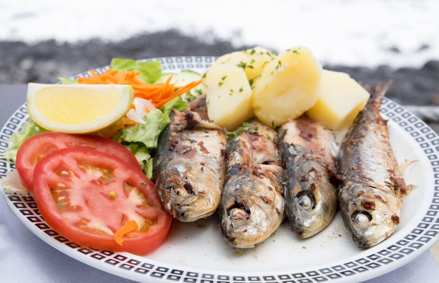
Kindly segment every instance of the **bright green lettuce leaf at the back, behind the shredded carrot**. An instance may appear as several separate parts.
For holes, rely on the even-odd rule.
[[[136,70],[140,72],[137,78],[144,80],[146,83],[153,83],[162,75],[162,67],[159,61],[137,62],[132,59],[113,58],[110,68],[122,72],[124,70]]]

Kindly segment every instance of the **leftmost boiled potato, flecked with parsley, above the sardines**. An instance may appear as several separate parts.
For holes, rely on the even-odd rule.
[[[233,63],[214,64],[203,75],[207,114],[216,125],[233,131],[252,115],[252,89],[242,68]]]

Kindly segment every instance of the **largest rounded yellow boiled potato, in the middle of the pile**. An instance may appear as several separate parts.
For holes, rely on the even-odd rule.
[[[317,101],[321,72],[322,65],[307,47],[281,52],[255,80],[255,115],[274,126],[299,117]]]

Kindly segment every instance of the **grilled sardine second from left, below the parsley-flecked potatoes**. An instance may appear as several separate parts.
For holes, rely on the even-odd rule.
[[[250,122],[227,144],[227,175],[219,204],[219,229],[232,247],[254,247],[282,222],[282,167],[276,132]]]

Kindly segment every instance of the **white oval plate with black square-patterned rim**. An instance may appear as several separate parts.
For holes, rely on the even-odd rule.
[[[165,72],[191,69],[201,72],[215,57],[187,56],[159,60]],[[98,68],[97,73],[107,67]],[[89,76],[89,72],[76,77]],[[353,243],[339,213],[331,224],[310,239],[301,240],[288,221],[257,247],[234,250],[221,237],[218,217],[192,223],[173,221],[165,244],[148,254],[129,254],[82,247],[60,236],[41,218],[33,195],[4,193],[11,211],[47,244],[97,269],[139,282],[171,283],[306,283],[334,279],[360,282],[407,262],[427,251],[439,240],[439,138],[419,118],[384,99],[381,115],[389,119],[390,143],[399,163],[417,160],[404,172],[407,184],[417,185],[405,198],[400,224],[387,240],[362,250]],[[26,121],[23,104],[9,118],[0,133],[0,152],[5,140]],[[0,176],[15,169],[0,160]],[[437,172],[437,173],[435,173]],[[238,254],[243,251],[243,254]]]

